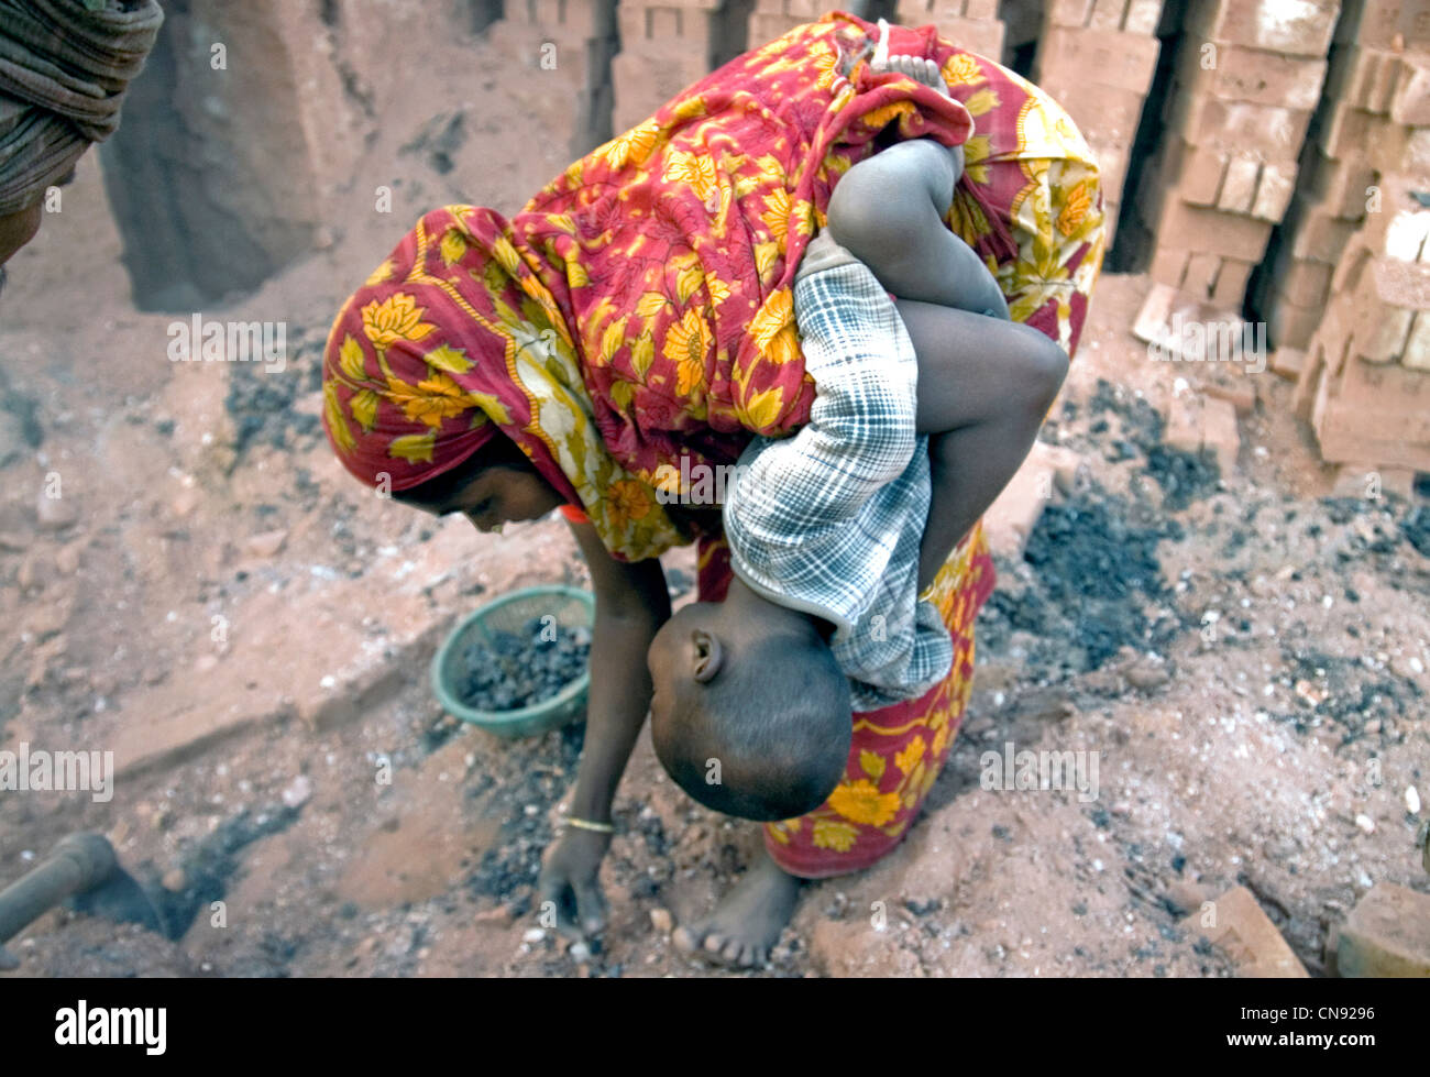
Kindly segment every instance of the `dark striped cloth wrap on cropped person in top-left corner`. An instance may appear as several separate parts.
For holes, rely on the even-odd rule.
[[[0,0],[0,216],[114,133],[163,19],[154,0]]]

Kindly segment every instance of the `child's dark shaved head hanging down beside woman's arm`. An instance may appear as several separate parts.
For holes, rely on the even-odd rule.
[[[824,804],[849,757],[849,681],[829,645],[788,611],[696,602],[651,642],[651,738],[675,782],[746,820]]]

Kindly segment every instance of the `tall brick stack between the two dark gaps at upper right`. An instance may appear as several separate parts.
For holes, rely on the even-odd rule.
[[[1151,276],[1237,312],[1286,216],[1320,100],[1338,0],[1205,0],[1188,7],[1138,215]]]

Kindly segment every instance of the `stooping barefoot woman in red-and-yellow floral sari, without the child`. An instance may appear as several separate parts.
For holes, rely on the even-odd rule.
[[[566,506],[591,568],[586,748],[572,828],[541,880],[571,933],[603,924],[596,872],[611,802],[651,699],[646,648],[669,616],[656,555],[699,541],[701,598],[719,601],[729,582],[718,511],[664,503],[658,486],[688,492],[675,476],[731,465],[752,435],[805,421],[812,383],[789,286],[835,185],[859,205],[888,146],[961,144],[957,197],[934,226],[982,256],[1015,323],[1067,355],[1077,348],[1103,215],[1071,120],[931,26],[894,27],[888,51],[934,60],[952,100],[871,70],[874,37],[869,23],[829,13],[692,84],[511,222],[466,206],[429,213],[333,325],[325,426],[349,471],[483,531]],[[872,233],[881,207],[864,202]],[[895,222],[911,242],[917,223]],[[960,312],[930,313],[917,290],[895,292],[915,348],[967,343],[967,326],[944,320]],[[990,379],[1017,390],[1027,330],[981,333]],[[682,945],[759,961],[799,878],[857,871],[899,841],[962,721],[972,621],[991,588],[974,528],[932,588],[955,642],[950,677],[918,701],[859,715],[845,781],[811,815],[766,827],[769,861],[709,921],[682,928]]]

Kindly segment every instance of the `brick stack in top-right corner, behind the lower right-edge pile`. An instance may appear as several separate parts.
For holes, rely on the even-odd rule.
[[[1256,305],[1277,348],[1307,348],[1377,177],[1430,172],[1430,4],[1347,0],[1301,180]]]

